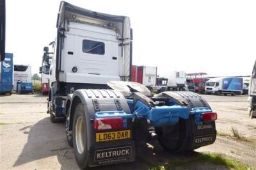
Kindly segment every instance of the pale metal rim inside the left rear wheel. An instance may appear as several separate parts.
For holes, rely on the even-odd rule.
[[[76,121],[76,148],[78,153],[82,154],[84,151],[84,121],[83,117],[79,116]]]

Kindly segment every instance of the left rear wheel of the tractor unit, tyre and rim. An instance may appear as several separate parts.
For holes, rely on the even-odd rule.
[[[87,167],[89,152],[87,148],[86,117],[81,103],[76,106],[74,113],[72,135],[76,162],[81,169],[84,169]]]

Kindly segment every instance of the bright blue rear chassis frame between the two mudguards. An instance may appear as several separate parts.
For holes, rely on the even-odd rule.
[[[127,126],[127,119],[147,119],[150,120],[154,127],[164,125],[176,125],[180,118],[189,119],[189,115],[195,115],[196,125],[202,125],[202,114],[204,112],[212,112],[207,107],[194,107],[189,109],[186,106],[175,104],[172,100],[167,102],[167,105],[149,107],[141,101],[135,104],[133,100],[127,100],[132,114],[127,114],[124,111],[99,111],[95,113],[95,118],[111,118],[122,117],[124,119],[124,128]]]

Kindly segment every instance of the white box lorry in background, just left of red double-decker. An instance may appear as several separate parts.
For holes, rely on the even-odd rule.
[[[186,73],[185,72],[167,72],[164,77],[168,79],[168,91],[184,91],[186,90]]]

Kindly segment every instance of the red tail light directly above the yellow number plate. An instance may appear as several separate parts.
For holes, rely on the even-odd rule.
[[[95,130],[118,129],[123,128],[123,118],[99,118],[94,120]]]

